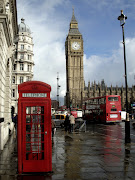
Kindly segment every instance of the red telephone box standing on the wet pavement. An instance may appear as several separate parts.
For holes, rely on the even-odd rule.
[[[28,81],[18,86],[18,172],[52,171],[51,86]]]

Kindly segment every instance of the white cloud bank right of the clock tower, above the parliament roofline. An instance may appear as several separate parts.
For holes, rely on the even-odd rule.
[[[132,86],[135,75],[135,38],[127,38],[125,44],[128,85]],[[87,56],[84,55],[84,77],[86,85],[88,81],[92,82],[96,80],[96,82],[98,82],[102,79],[105,80],[108,86],[111,84],[113,86],[125,85],[124,74],[123,44],[121,42],[119,43],[119,49],[113,51],[109,57],[105,55],[92,55],[87,58]]]

